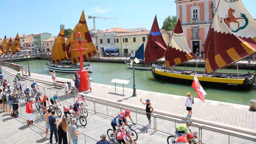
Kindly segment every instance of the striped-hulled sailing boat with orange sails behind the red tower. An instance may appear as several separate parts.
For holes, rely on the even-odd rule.
[[[84,35],[86,35],[86,37],[82,35],[83,37],[82,39],[86,40],[87,42],[90,41],[92,43],[89,30],[88,28],[87,29],[86,28],[87,28],[87,24],[85,21],[85,16],[83,11],[80,17],[79,23],[75,26],[66,44],[64,39],[64,30],[61,29],[60,34],[58,35],[53,45],[53,48],[51,50],[52,61],[48,61],[46,64],[49,70],[76,73],[76,71],[80,69],[80,65],[78,65],[79,61],[77,60],[79,58],[75,57],[77,55],[75,55],[72,50],[74,48],[76,49],[76,47],[74,47],[72,43],[73,43],[73,40],[77,39],[76,35],[78,32],[82,34],[84,33]],[[89,34],[89,37],[87,33]],[[90,53],[90,54],[88,54],[88,57],[84,56],[83,57],[84,59],[87,59],[98,53],[93,43],[90,44],[88,42],[88,47],[89,47],[89,50],[86,50],[86,51],[87,53]],[[68,60],[68,59],[71,59],[71,60]],[[83,67],[84,69],[87,69],[88,72],[92,72],[91,64],[84,64]]]

